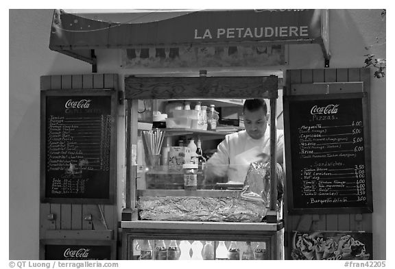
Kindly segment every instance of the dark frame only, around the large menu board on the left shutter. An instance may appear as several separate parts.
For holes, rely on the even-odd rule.
[[[110,114],[112,121],[110,123],[110,155],[109,155],[109,190],[108,198],[60,198],[46,196],[47,179],[47,97],[110,97]],[[116,192],[116,157],[117,157],[117,91],[105,89],[82,89],[82,90],[42,90],[41,91],[41,110],[40,110],[40,200],[43,203],[115,203]]]

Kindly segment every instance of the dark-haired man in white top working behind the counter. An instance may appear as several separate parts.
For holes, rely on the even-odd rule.
[[[219,177],[228,183],[243,183],[251,162],[267,162],[270,158],[270,128],[267,127],[267,105],[263,99],[247,99],[243,105],[246,130],[231,133],[217,146],[208,159],[204,177],[208,185]],[[283,164],[284,133],[277,130],[276,159]]]

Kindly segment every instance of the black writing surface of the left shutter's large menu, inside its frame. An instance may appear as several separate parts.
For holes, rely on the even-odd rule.
[[[47,102],[47,194],[93,198],[108,190],[112,116],[104,97],[51,97]],[[110,97],[107,103],[110,105]],[[87,103],[75,107],[67,103]],[[104,188],[104,189],[103,189]]]

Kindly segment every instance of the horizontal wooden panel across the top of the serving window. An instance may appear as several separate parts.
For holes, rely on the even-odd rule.
[[[128,77],[126,99],[277,98],[277,77]]]

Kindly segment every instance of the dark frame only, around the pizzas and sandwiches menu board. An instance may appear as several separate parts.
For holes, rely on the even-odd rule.
[[[309,101],[309,100],[331,100],[331,99],[361,99],[362,103],[362,117],[363,117],[363,136],[364,136],[364,161],[366,167],[366,207],[294,207],[294,184],[293,184],[293,170],[291,159],[291,138],[292,135],[285,136],[285,159],[287,168],[287,184],[289,184],[288,194],[288,212],[289,214],[334,214],[334,213],[366,213],[373,212],[372,201],[372,168],[370,155],[370,118],[368,107],[368,94],[366,92],[344,93],[344,94],[313,94],[313,95],[296,95],[284,97],[284,123],[285,131],[290,132],[290,118],[289,118],[289,103],[290,101]]]

